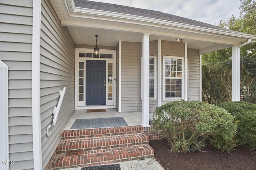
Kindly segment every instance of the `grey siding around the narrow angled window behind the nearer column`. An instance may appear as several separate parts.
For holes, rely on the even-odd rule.
[[[158,53],[158,44],[157,40],[150,41],[149,42],[149,55],[150,56],[156,56],[156,89],[158,90],[158,59],[157,59],[157,53]],[[141,57],[142,57],[142,43],[139,43],[139,111],[142,111],[142,99],[141,99]],[[157,99],[158,99],[158,93],[156,93],[156,99],[149,99],[149,112],[153,113],[155,111],[155,108],[157,107]]]

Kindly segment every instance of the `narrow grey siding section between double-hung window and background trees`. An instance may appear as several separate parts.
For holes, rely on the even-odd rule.
[[[198,49],[188,49],[188,97],[200,101],[200,55]]]

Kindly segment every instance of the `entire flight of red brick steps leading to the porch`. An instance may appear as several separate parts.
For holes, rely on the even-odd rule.
[[[140,125],[62,131],[52,170],[153,157],[146,134]]]

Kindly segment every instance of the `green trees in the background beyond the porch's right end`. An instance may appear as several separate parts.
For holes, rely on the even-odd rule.
[[[240,0],[240,17],[220,20],[220,27],[256,35],[256,1]],[[241,94],[256,103],[256,42],[241,47]],[[202,55],[202,101],[218,104],[232,100],[231,49]]]

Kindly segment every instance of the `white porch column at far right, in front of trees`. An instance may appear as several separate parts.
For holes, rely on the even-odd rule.
[[[240,49],[232,46],[232,101],[240,101]]]

